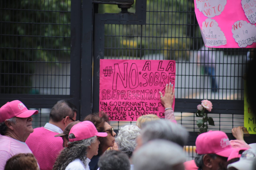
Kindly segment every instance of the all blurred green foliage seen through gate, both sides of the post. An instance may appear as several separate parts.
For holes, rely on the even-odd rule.
[[[70,11],[71,0],[0,0],[0,93],[37,93],[32,75],[38,64],[47,69],[69,60]],[[120,11],[99,6],[100,13]],[[134,13],[135,5],[128,11]],[[200,35],[193,0],[147,0],[146,25],[105,26],[105,56],[184,60],[194,48],[190,37]]]

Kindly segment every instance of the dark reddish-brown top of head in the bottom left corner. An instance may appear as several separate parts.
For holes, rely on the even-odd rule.
[[[39,170],[33,154],[17,154],[9,158],[5,170]]]

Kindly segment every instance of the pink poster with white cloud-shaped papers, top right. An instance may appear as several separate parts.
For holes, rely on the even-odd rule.
[[[256,0],[194,0],[194,4],[206,47],[256,47]]]

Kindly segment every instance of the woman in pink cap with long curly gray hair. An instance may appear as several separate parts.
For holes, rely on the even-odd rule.
[[[59,154],[52,170],[90,170],[90,159],[98,154],[100,141],[97,137],[106,136],[107,133],[98,133],[90,121],[74,125],[67,147]]]

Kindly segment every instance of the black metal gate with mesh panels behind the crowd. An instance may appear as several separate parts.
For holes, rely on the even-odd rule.
[[[194,112],[202,99],[213,103],[216,126],[210,129],[231,137],[233,127],[243,126],[242,77],[252,49],[202,49],[193,0],[136,0],[128,11],[114,1],[104,3],[1,0],[0,105],[21,100],[39,109],[34,125],[43,126],[50,108],[65,99],[82,119],[99,109],[101,58],[175,60],[175,116],[190,131],[190,145],[197,137]],[[122,3],[119,7],[127,7]],[[206,74],[199,51],[216,57],[215,76]],[[218,93],[211,93],[212,77]],[[127,123],[135,122],[112,125],[119,129]]]

